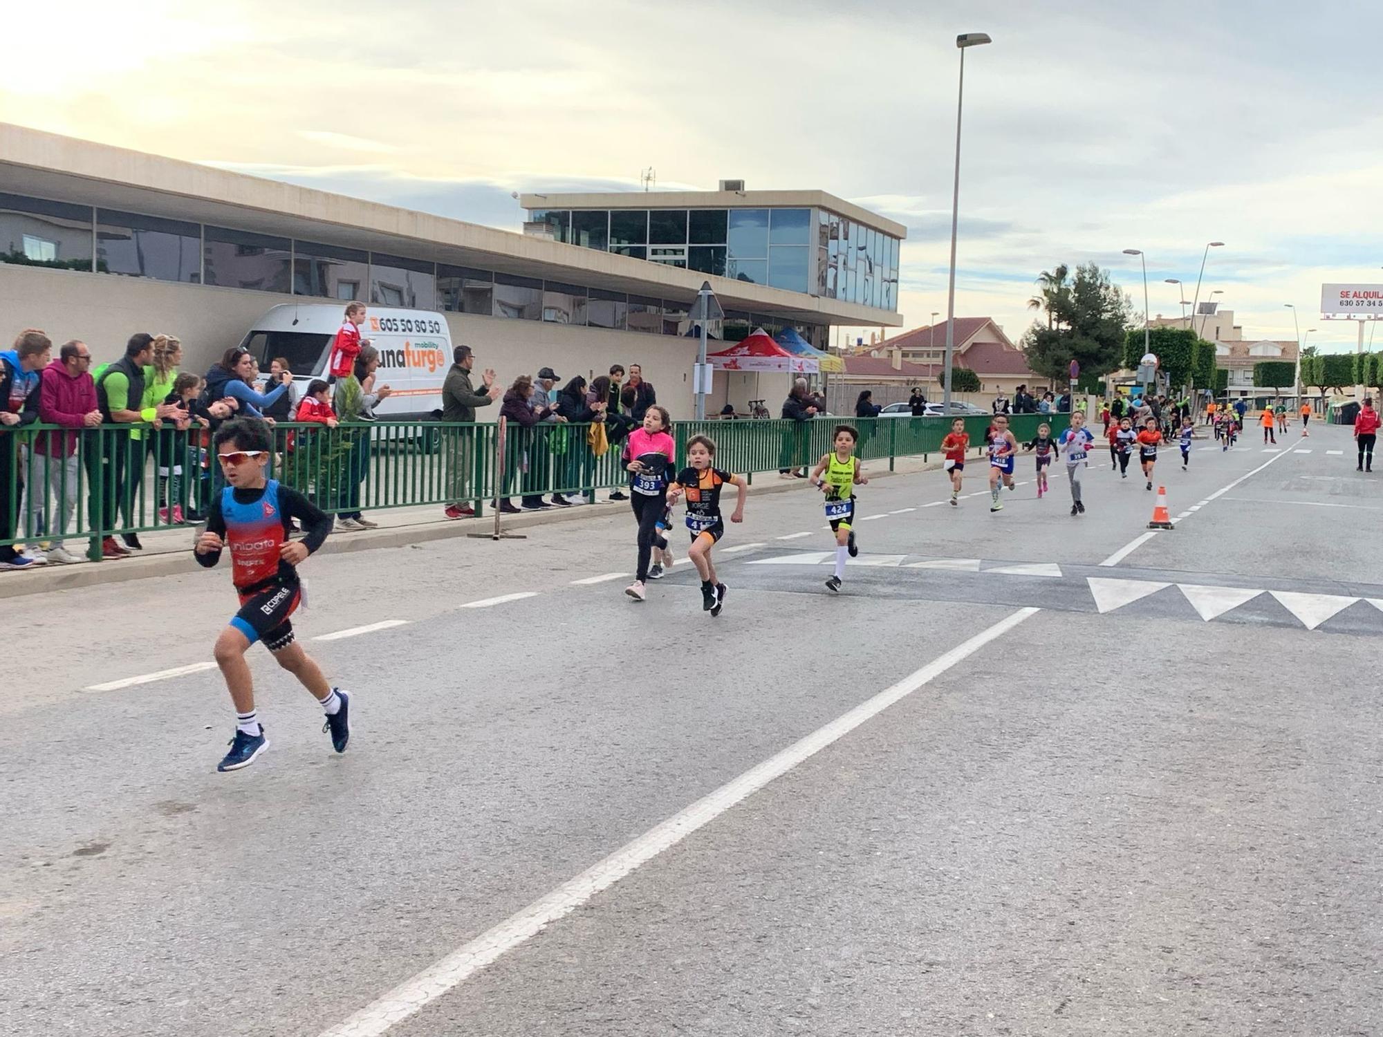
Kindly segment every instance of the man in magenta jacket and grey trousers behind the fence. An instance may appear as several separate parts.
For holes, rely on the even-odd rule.
[[[82,561],[62,546],[62,535],[77,509],[77,445],[83,429],[101,424],[101,408],[95,398],[95,383],[91,380],[91,350],[84,342],[72,340],[58,350],[58,359],[43,369],[39,382],[39,422],[61,424],[68,431],[39,433],[35,438],[33,485],[29,487],[29,535],[33,536],[35,514],[48,516],[48,538],[53,548],[48,561],[66,564]],[[97,444],[87,444],[86,454],[97,459]],[[50,502],[55,501],[57,507]],[[54,521],[54,517],[58,521]],[[37,545],[29,546],[29,554],[37,553]]]

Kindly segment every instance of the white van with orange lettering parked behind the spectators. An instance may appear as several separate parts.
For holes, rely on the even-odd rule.
[[[326,377],[326,355],[344,319],[346,303],[282,303],[254,322],[241,348],[266,373],[277,357],[286,359],[297,401],[308,382]],[[360,333],[379,350],[376,383],[393,390],[375,407],[375,416],[396,422],[440,416],[441,383],[451,368],[447,318],[430,310],[372,306]]]

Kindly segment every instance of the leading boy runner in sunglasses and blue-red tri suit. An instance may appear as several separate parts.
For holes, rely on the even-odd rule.
[[[228,546],[231,581],[241,597],[241,610],[216,639],[216,664],[235,704],[235,737],[216,769],[239,770],[268,748],[245,661],[245,653],[259,640],[278,665],[313,693],[326,713],[322,730],[331,731],[336,752],[344,752],[350,740],[350,695],[326,683],[317,662],[295,643],[289,619],[303,600],[297,566],[326,541],[332,518],[296,489],[264,477],[272,434],[261,419],[227,422],[213,444],[228,485],[212,499],[206,532],[196,541],[196,560],[210,568]],[[307,531],[301,541],[288,538],[295,518]]]

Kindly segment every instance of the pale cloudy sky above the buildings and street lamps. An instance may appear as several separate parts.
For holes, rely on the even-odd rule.
[[[1252,14],[1250,14],[1252,12]],[[946,310],[958,32],[958,315],[1012,337],[1094,260],[1153,315],[1212,290],[1253,337],[1353,350],[1322,281],[1383,281],[1376,3],[69,0],[0,120],[519,230],[512,191],[823,188],[909,227],[907,326]],[[61,19],[61,25],[54,24]],[[61,46],[57,41],[61,40]],[[1383,346],[1379,335],[1377,346]]]

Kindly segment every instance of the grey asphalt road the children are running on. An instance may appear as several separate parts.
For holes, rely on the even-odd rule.
[[[259,653],[235,774],[227,572],[0,601],[0,1033],[1380,1033],[1383,473],[1279,447],[880,478],[839,596],[751,492],[719,618],[624,512],[314,559],[350,749]]]

